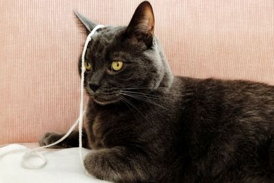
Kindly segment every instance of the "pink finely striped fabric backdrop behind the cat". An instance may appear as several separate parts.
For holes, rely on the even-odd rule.
[[[140,1],[0,1],[0,144],[36,142],[77,119],[84,35],[72,10],[127,25]],[[274,84],[274,1],[151,0],[175,75]]]

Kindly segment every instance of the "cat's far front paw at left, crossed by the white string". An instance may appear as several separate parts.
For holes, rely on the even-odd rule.
[[[60,138],[62,138],[62,136],[63,136],[62,134],[59,134],[57,132],[47,132],[42,136],[42,138],[40,138],[39,145],[45,146],[45,145],[55,143]],[[61,142],[61,143],[58,143],[57,145],[53,145],[49,148],[67,148],[67,147],[66,147],[65,143]]]

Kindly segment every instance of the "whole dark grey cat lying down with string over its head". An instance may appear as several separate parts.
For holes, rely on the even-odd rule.
[[[274,182],[274,86],[173,77],[151,38],[150,8],[139,5],[128,27],[101,29],[86,54],[100,60],[85,75],[84,146],[96,150],[85,158],[88,172],[127,183]],[[108,58],[122,59],[123,69],[106,71]],[[60,147],[77,147],[77,134]]]

